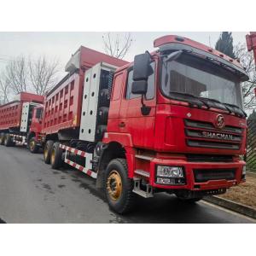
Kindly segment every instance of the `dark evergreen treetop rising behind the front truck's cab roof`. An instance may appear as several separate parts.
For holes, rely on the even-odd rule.
[[[232,32],[222,32],[215,44],[215,49],[235,59]]]

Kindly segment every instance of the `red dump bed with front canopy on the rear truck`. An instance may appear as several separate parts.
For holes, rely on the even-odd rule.
[[[0,106],[0,131],[20,127],[22,106],[24,102],[43,103],[44,96],[21,92],[15,101]]]

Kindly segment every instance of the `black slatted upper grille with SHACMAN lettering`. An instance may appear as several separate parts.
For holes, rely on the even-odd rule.
[[[240,127],[227,125],[217,130],[212,123],[184,119],[186,143],[195,148],[220,148],[238,150],[241,147]]]

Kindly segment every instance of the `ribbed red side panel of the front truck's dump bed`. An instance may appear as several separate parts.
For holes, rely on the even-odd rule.
[[[46,134],[79,126],[84,75],[74,73],[52,90],[44,102],[44,128]]]

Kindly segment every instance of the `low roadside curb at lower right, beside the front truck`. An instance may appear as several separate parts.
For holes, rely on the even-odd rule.
[[[206,196],[204,198],[204,201],[211,202],[212,204],[227,208],[234,212],[239,212],[239,213],[246,215],[250,218],[256,219],[256,210],[253,209],[252,207],[247,207],[245,205],[242,205],[242,204],[239,204],[239,203],[236,203],[234,201],[230,201],[230,200],[227,200],[224,198],[220,198],[218,196]]]

